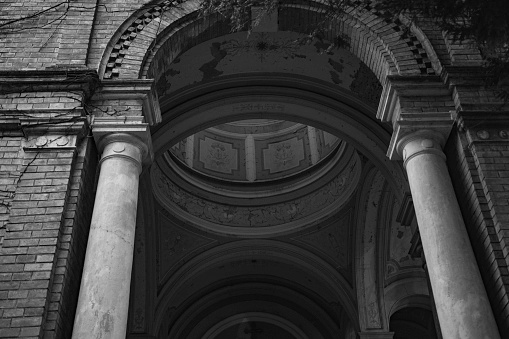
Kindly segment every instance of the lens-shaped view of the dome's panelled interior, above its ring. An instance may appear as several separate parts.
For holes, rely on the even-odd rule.
[[[169,155],[205,177],[237,183],[289,178],[325,161],[341,140],[290,121],[241,120],[207,128],[174,145]]]

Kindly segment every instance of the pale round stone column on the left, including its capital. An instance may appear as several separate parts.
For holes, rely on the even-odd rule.
[[[126,335],[139,175],[148,147],[135,133],[122,133],[127,130],[122,127],[114,133],[93,129],[102,156],[74,339]],[[149,133],[147,126],[137,128]]]

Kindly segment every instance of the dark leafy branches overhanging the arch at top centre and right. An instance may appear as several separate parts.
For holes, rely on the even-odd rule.
[[[472,41],[486,61],[487,75],[497,86],[509,85],[509,1],[508,0],[361,0],[393,19],[405,15],[411,21],[432,20],[453,39]],[[323,21],[310,31],[316,37],[328,23],[341,18],[355,0],[325,0]],[[260,18],[285,5],[281,0],[203,0],[202,13],[219,12],[227,17],[232,31],[256,25]],[[251,7],[258,15],[251,18]]]

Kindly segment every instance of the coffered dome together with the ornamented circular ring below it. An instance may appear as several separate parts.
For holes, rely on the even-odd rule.
[[[355,149],[318,128],[251,119],[170,147],[152,168],[156,198],[199,228],[263,237],[325,220],[359,182]]]

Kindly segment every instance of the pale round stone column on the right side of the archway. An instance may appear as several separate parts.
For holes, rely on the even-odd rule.
[[[444,338],[500,338],[442,152],[442,134],[400,138]]]

